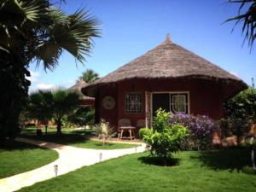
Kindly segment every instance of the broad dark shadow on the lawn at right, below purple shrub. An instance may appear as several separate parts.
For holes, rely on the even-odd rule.
[[[243,167],[252,164],[249,148],[224,148],[199,153],[199,155],[191,155],[190,159],[199,160],[201,166],[208,166],[214,170],[240,172]]]

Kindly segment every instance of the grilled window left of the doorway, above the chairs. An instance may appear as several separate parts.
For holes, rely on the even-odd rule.
[[[125,111],[126,113],[142,113],[142,95],[127,94],[125,96]]]

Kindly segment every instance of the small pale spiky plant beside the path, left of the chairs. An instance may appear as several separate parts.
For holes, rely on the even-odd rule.
[[[111,127],[104,119],[101,119],[101,122],[95,125],[94,129],[99,139],[102,139],[102,145],[105,145],[106,141],[113,134],[113,127]]]

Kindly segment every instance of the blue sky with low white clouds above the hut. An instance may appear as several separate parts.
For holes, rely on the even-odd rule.
[[[67,53],[53,72],[32,63],[32,85],[38,88],[69,87],[87,68],[104,76],[143,55],[171,34],[172,41],[236,74],[247,84],[256,80],[256,50],[242,46],[241,27],[224,20],[237,15],[237,6],[224,0],[67,0],[68,13],[86,7],[101,20],[102,38],[95,38],[84,66]]]

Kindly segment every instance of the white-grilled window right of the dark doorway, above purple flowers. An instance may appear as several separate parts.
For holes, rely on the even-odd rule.
[[[188,94],[177,93],[170,94],[172,113],[189,113],[188,111]]]

